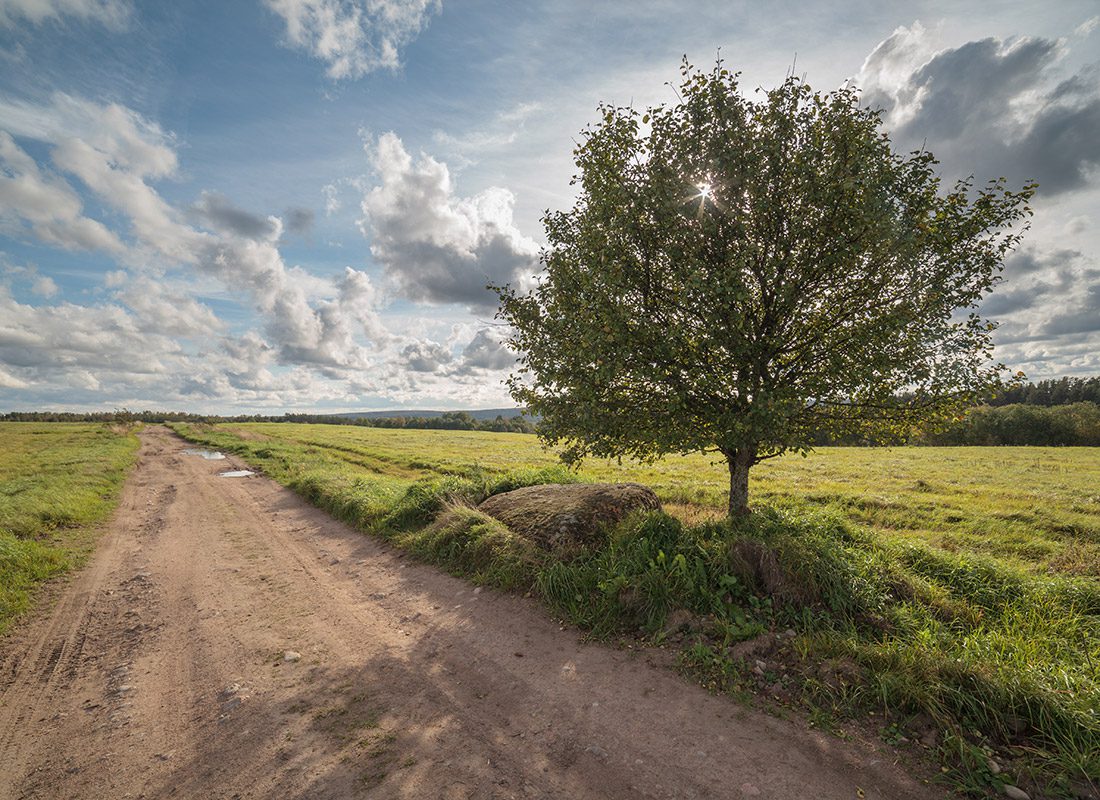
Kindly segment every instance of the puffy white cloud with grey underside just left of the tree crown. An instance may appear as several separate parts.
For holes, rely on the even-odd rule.
[[[380,179],[362,202],[360,227],[371,254],[413,300],[496,306],[487,284],[521,282],[538,267],[538,245],[513,220],[510,191],[454,194],[447,165],[414,161],[394,133],[370,149]]]

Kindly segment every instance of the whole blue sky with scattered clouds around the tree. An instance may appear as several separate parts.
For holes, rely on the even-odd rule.
[[[996,358],[1100,373],[1096,0],[0,0],[0,412],[512,405],[486,284],[538,273],[600,102],[719,54],[1037,180]]]

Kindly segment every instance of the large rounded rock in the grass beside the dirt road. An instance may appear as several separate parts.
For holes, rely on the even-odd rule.
[[[660,508],[640,483],[544,483],[494,494],[477,506],[540,547],[564,552],[598,543],[630,512]]]

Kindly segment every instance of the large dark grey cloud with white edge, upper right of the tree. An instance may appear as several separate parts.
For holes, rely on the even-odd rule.
[[[1065,40],[990,37],[937,51],[932,39],[920,23],[899,28],[856,77],[865,102],[886,110],[897,146],[927,146],[956,176],[1035,179],[1048,196],[1090,184],[1100,73],[1059,78]]]

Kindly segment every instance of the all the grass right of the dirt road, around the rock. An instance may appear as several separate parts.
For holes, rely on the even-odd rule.
[[[575,475],[522,435],[174,427],[594,636],[675,647],[715,691],[920,741],[963,793],[1020,782],[1070,797],[1100,780],[1094,451],[827,449],[758,467],[757,513],[725,520],[725,475],[704,457]],[[471,507],[578,478],[647,483],[678,516],[630,517],[561,559]]]

